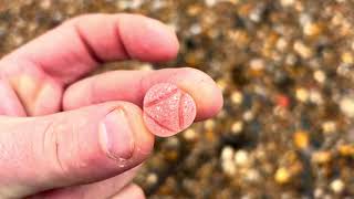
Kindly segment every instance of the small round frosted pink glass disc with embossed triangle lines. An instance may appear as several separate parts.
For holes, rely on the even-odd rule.
[[[159,83],[144,97],[144,122],[155,135],[167,137],[186,129],[196,118],[192,97],[175,84]]]

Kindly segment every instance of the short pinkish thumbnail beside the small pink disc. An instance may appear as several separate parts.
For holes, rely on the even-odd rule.
[[[124,111],[115,109],[105,116],[100,124],[100,143],[113,159],[122,160],[132,157],[133,130]]]

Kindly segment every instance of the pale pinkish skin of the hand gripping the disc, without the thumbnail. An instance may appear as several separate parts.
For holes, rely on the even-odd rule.
[[[2,57],[0,198],[145,198],[132,184],[155,139],[142,117],[145,92],[157,83],[176,84],[195,100],[196,122],[220,111],[221,92],[189,67],[87,75],[105,62],[169,61],[178,48],[176,34],[156,20],[90,14]],[[100,124],[116,109],[125,113],[134,143],[123,166],[100,143]]]

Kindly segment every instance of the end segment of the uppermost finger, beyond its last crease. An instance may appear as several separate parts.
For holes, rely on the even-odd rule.
[[[177,35],[160,21],[138,14],[119,14],[118,25],[127,54],[133,59],[162,62],[177,56]]]

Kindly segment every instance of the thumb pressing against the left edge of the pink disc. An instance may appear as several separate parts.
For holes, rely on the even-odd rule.
[[[140,164],[154,136],[139,107],[112,102],[43,117],[0,117],[0,198],[88,184]]]

